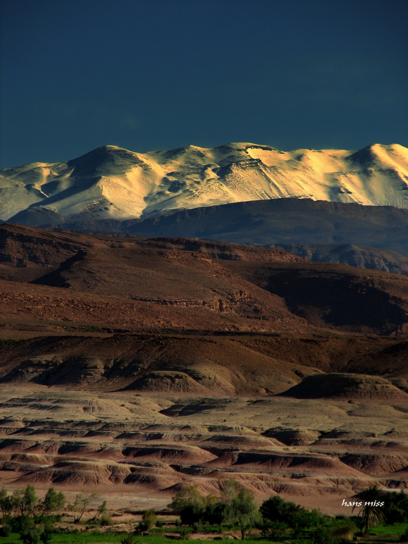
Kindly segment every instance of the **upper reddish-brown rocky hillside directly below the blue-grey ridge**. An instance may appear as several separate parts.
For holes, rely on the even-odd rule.
[[[265,332],[311,325],[387,335],[406,330],[408,279],[381,271],[201,240],[120,240],[7,224],[0,234],[0,277],[21,283],[4,286],[4,316],[30,317],[35,308],[43,321],[143,329],[158,320],[186,328],[193,311],[192,329],[221,319],[228,326],[215,329],[239,330],[243,319],[244,328]]]

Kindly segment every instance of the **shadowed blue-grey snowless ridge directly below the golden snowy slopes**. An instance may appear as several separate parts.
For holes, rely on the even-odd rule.
[[[43,211],[42,214],[46,214]],[[408,210],[392,206],[273,199],[183,209],[146,219],[63,221],[51,228],[113,236],[188,237],[236,244],[355,244],[408,255]],[[42,228],[41,214],[17,224]],[[48,218],[50,215],[48,215]],[[35,220],[38,220],[35,222]]]

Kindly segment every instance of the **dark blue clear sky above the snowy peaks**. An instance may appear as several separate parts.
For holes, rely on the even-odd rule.
[[[408,147],[407,0],[3,0],[0,168],[112,144]]]

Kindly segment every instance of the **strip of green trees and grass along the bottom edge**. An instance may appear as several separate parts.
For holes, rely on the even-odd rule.
[[[375,485],[356,495],[360,500],[353,502],[351,514],[358,515],[336,520],[327,520],[320,511],[307,510],[279,495],[264,500],[258,507],[254,494],[233,479],[224,481],[220,497],[203,496],[197,486],[192,485],[177,492],[168,505],[172,514],[180,516],[175,523],[166,525],[153,510],[146,510],[141,521],[137,525],[130,524],[128,532],[122,534],[112,531],[115,523],[107,503],[103,501],[96,506],[97,498],[95,492],[83,490],[72,504],[66,505],[64,493],[53,487],[42,500],[30,484],[12,494],[3,487],[0,490],[0,544],[169,544],[174,539],[180,543],[194,542],[189,536],[197,533],[203,533],[203,539],[213,537],[217,541],[227,540],[228,536],[237,539],[239,534],[241,540],[248,543],[268,540],[335,544],[353,541],[356,536],[363,543],[408,541],[408,495],[403,491],[385,493]],[[66,511],[74,521],[67,524],[69,529],[60,529],[57,523]],[[121,526],[116,527],[120,529]]]

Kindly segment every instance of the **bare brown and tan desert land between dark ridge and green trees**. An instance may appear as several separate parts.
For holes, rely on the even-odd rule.
[[[0,486],[140,511],[233,477],[343,514],[408,487],[406,276],[13,224],[0,249]]]

